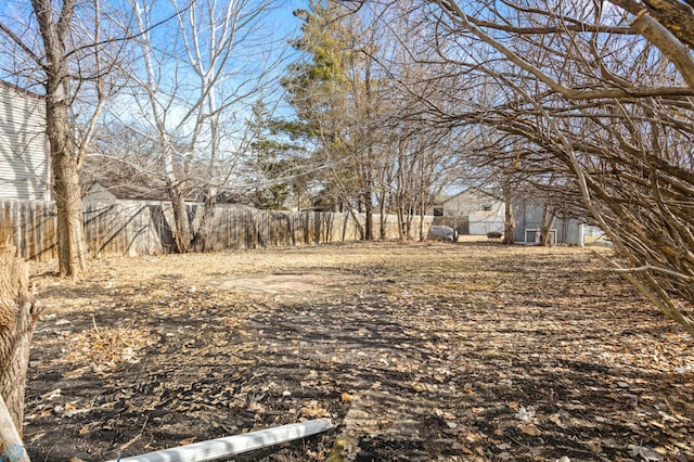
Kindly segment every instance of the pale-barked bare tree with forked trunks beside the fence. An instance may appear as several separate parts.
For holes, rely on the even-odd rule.
[[[140,70],[130,75],[136,86],[129,101],[139,112],[121,121],[151,124],[146,133],[155,133],[163,167],[153,176],[171,201],[177,249],[204,251],[217,198],[250,151],[252,106],[281,56],[278,39],[264,31],[271,4],[131,0],[131,8]],[[175,21],[153,29],[163,10]],[[166,39],[171,35],[175,40]],[[204,203],[194,229],[185,206],[191,198]]]

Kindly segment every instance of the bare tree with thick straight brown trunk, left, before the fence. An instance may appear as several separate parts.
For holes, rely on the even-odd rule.
[[[123,30],[102,21],[100,1],[80,9],[79,14],[75,0],[57,5],[51,0],[31,0],[30,5],[15,7],[16,14],[27,16],[0,20],[3,57],[9,64],[5,72],[23,85],[38,84],[43,89],[60,273],[78,278],[88,268],[79,174],[104,102],[114,88],[106,75],[119,60],[119,46],[113,40]],[[70,110],[87,93],[90,108],[80,114],[83,129],[79,131]]]

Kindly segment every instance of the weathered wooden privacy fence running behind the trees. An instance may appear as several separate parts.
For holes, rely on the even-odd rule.
[[[202,206],[189,205],[196,224]],[[57,258],[56,210],[52,202],[0,201],[0,243],[17,248],[21,258]],[[387,216],[387,239],[398,238],[395,216]],[[358,221],[349,213],[258,210],[219,205],[209,251],[286,247],[359,240]],[[374,216],[377,224],[380,217]],[[432,217],[424,217],[425,230]],[[419,226],[419,219],[415,219]],[[172,214],[165,202],[116,201],[85,203],[85,239],[94,258],[168,253],[174,248]],[[413,228],[416,229],[415,226]]]

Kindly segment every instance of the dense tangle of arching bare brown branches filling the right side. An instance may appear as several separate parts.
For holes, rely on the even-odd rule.
[[[674,0],[614,3],[637,17],[570,0],[421,7],[436,33],[440,91],[465,89],[427,102],[441,124],[523,140],[522,171],[577,195],[577,213],[615,243],[609,265],[694,332],[694,90],[680,34],[692,10]],[[471,101],[471,88],[493,97]]]

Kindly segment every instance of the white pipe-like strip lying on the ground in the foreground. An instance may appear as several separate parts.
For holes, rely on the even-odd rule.
[[[330,419],[317,419],[259,429],[243,435],[227,436],[207,441],[193,442],[178,448],[163,449],[146,454],[118,459],[119,462],[203,462],[214,461],[242,452],[261,449],[266,446],[292,441],[305,436],[329,431],[333,427]],[[117,462],[117,461],[110,461]]]

